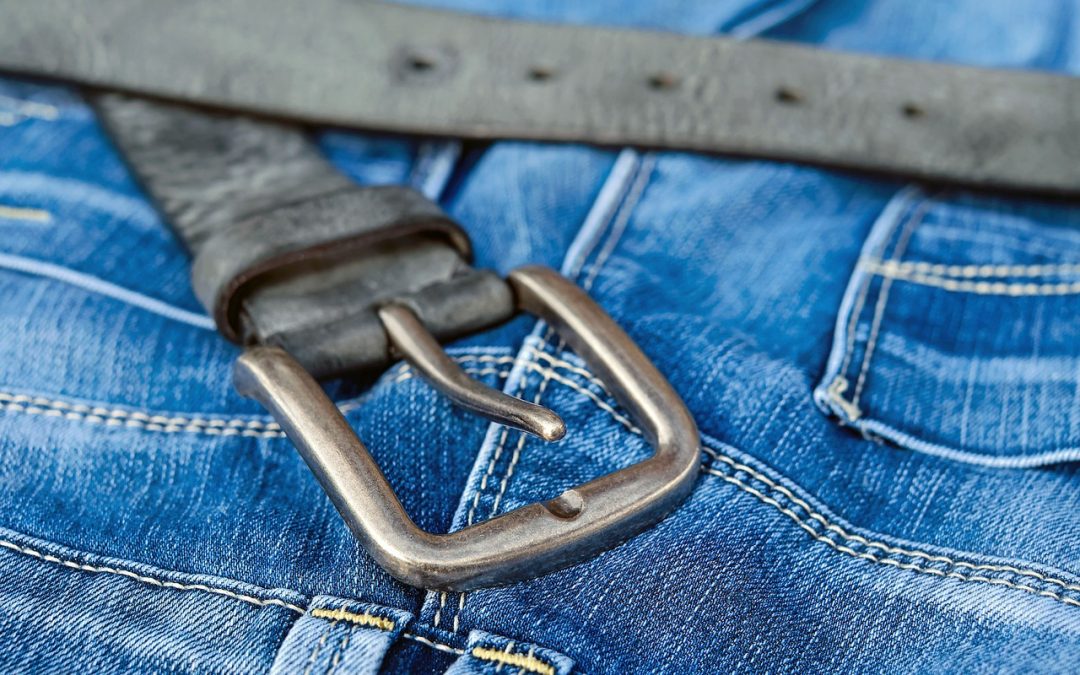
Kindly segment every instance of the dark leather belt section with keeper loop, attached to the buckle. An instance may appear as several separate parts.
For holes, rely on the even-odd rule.
[[[505,282],[469,266],[469,237],[436,204],[353,184],[298,127],[121,94],[94,103],[229,339],[283,347],[328,377],[391,361],[382,302],[409,305],[441,339],[513,314]]]

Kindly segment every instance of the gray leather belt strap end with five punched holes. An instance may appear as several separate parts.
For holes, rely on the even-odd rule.
[[[355,0],[0,0],[0,69],[300,122],[1080,193],[1065,77]]]

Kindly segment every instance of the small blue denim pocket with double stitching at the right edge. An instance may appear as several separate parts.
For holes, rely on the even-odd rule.
[[[818,404],[872,437],[1080,460],[1080,210],[907,190],[872,229]]]

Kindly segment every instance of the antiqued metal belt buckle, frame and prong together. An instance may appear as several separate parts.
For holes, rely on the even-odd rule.
[[[524,267],[508,281],[517,307],[551,324],[630,411],[651,457],[552,500],[433,535],[413,523],[367,448],[292,356],[252,347],[237,362],[240,393],[270,410],[372,557],[410,585],[469,591],[592,557],[663,518],[698,475],[700,438],[690,413],[611,318],[554,270]],[[387,306],[380,316],[394,347],[458,404],[543,437],[563,435],[551,410],[470,379],[404,306]]]

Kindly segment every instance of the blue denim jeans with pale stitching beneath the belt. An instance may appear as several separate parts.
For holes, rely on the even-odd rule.
[[[1076,71],[1075,4],[446,3]],[[701,477],[597,558],[468,594],[363,553],[71,90],[0,82],[0,671],[1070,672],[1080,663],[1080,211],[675,152],[326,132],[477,262],[576,279],[702,431]],[[446,531],[648,454],[528,319],[450,353],[562,414],[544,444],[396,365],[328,391]]]

